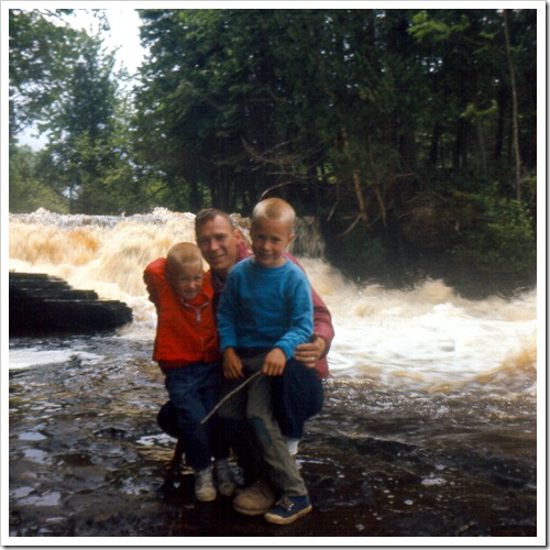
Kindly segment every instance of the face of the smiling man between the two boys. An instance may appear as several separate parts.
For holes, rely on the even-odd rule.
[[[226,278],[237,262],[239,232],[228,220],[216,216],[197,231],[197,244],[210,268]]]

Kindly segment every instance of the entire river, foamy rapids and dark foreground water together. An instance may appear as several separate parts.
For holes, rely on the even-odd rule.
[[[10,340],[13,540],[536,537],[536,289],[358,286],[322,257],[300,257],[336,329],[324,407],[300,448],[314,514],[282,530],[197,505],[189,475],[165,482],[174,441],[155,424],[165,391],[142,273],[194,241],[193,220],[10,216],[10,270],[63,277],[134,317],[116,333]],[[319,250],[307,239],[300,252]]]

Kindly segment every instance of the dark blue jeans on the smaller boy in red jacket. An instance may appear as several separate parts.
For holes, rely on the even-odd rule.
[[[166,372],[166,389],[177,410],[179,431],[185,433],[187,459],[195,471],[210,465],[210,421],[200,420],[220,398],[220,363],[193,363]]]

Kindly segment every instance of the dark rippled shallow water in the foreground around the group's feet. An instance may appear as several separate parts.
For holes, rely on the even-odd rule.
[[[166,476],[174,441],[155,422],[165,393],[151,342],[20,339],[10,351],[31,364],[9,377],[9,535],[15,543],[21,537],[527,542],[542,535],[530,393],[480,386],[464,396],[345,374],[331,378],[299,453],[315,509],[278,527],[238,515],[224,499],[196,503],[188,470]]]

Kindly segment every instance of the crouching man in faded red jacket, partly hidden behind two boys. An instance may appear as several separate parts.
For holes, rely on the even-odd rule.
[[[235,263],[250,256],[251,252],[246,249],[246,243],[234,227],[231,217],[221,210],[213,208],[200,210],[195,218],[195,232],[202,257],[210,265],[212,272],[216,309],[229,272]],[[285,256],[298,264],[290,254],[285,252]],[[318,384],[315,387],[306,388],[309,395],[305,399],[304,394],[296,395],[296,387],[299,387],[299,381],[296,384],[295,380],[296,372],[285,372],[276,398],[278,403],[274,404],[278,413],[277,420],[293,454],[297,452],[304,422],[321,408],[322,386],[320,381],[329,376],[327,354],[334,337],[327,306],[315,289],[311,290],[311,297],[314,301],[314,337],[311,342],[298,345],[295,358],[307,367],[316,370]],[[242,428],[238,427],[234,431],[238,432]],[[264,482],[261,451],[251,444],[248,437],[239,438],[235,451],[240,464],[243,466],[248,486],[235,497],[234,505],[239,507],[241,513],[262,515],[273,506],[275,498]]]

